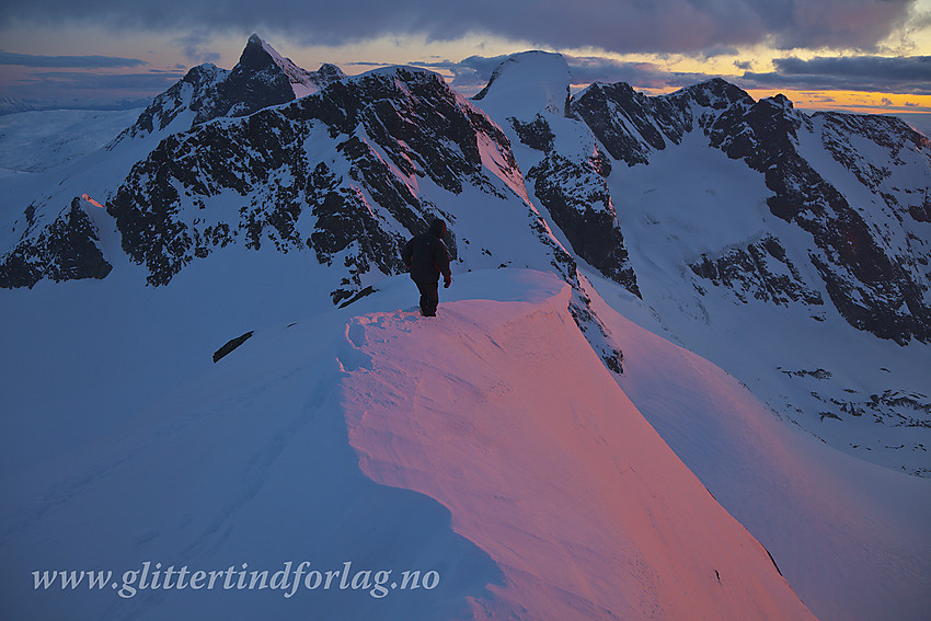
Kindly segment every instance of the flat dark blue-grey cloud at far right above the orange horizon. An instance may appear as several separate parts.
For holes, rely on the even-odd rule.
[[[931,56],[780,58],[775,71],[742,77],[744,88],[931,94]]]

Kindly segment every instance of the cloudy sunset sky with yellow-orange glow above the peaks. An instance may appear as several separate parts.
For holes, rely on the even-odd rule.
[[[722,77],[802,108],[931,113],[931,0],[3,0],[0,97],[145,105],[191,67],[232,68],[252,33],[306,69],[416,65],[465,94],[544,49],[575,89]]]

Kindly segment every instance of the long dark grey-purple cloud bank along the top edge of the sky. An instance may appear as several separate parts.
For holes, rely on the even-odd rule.
[[[0,24],[84,20],[151,30],[268,28],[304,44],[384,34],[449,41],[492,34],[540,47],[700,53],[774,42],[783,47],[875,46],[916,0],[4,0]]]

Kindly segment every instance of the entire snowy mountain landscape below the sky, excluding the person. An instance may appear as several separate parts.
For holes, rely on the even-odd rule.
[[[931,470],[928,140],[720,80],[568,84],[527,53],[468,101],[253,36],[105,149],[5,184],[4,601],[920,619],[929,482],[895,470]],[[398,310],[398,251],[435,216],[456,281],[428,324]],[[149,560],[441,579],[31,588]]]

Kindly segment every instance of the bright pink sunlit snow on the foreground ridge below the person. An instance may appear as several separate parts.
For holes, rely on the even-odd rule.
[[[498,565],[476,619],[814,619],[595,355],[570,288],[354,319],[350,445]]]

